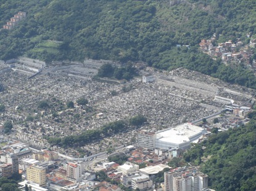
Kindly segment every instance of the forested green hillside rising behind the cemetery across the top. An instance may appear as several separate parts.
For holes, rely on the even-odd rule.
[[[197,47],[213,33],[218,42],[237,37],[249,42],[247,34],[253,38],[256,33],[256,1],[171,2],[2,0],[1,26],[18,11],[27,12],[27,19],[10,31],[0,31],[0,59],[25,55],[47,62],[85,57],[145,61],[159,69],[182,66],[255,88],[252,72],[226,68]],[[176,44],[191,49],[176,48]]]

